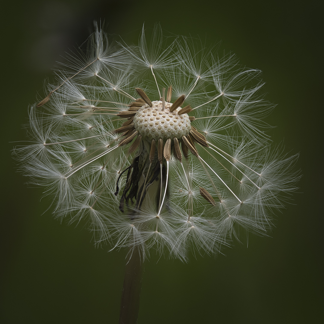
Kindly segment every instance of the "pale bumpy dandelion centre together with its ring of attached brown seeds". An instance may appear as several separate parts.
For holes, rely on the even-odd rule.
[[[169,160],[171,157],[171,146],[179,161],[182,161],[182,154],[188,156],[188,150],[198,156],[194,142],[208,147],[203,134],[199,133],[191,121],[195,117],[188,116],[192,109],[190,105],[181,108],[185,97],[180,96],[174,103],[170,103],[172,87],[168,89],[167,101],[162,97],[160,101],[152,102],[145,92],[136,88],[141,98],[136,99],[129,105],[128,110],[121,111],[117,116],[127,118],[121,127],[115,129],[115,133],[122,133],[124,137],[119,146],[132,143],[129,152],[133,153],[142,140],[151,142],[150,160],[154,159],[157,145],[157,155],[160,163],[163,157]],[[173,143],[172,143],[173,142]]]

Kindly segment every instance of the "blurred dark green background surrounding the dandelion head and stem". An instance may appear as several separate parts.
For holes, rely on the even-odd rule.
[[[322,16],[292,1],[7,2],[2,14],[1,323],[117,323],[125,251],[96,249],[82,227],[54,220],[40,188],[28,188],[10,150],[26,138],[28,105],[53,79],[55,61],[87,39],[92,21],[136,42],[145,22],[222,41],[263,71],[275,143],[300,152],[300,193],[277,213],[271,237],[249,236],[225,255],[188,264],[145,262],[139,324],[319,323],[323,318]],[[320,209],[321,208],[321,209]]]

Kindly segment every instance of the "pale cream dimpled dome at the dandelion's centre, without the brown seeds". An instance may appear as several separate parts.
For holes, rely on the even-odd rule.
[[[148,141],[162,138],[167,140],[189,134],[191,124],[188,114],[179,115],[181,108],[170,112],[172,103],[166,102],[165,109],[162,110],[162,101],[153,101],[153,106],[144,105],[134,116],[134,127],[142,135],[142,138]]]

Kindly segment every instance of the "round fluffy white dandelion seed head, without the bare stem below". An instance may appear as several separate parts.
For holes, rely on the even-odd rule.
[[[187,260],[215,254],[240,231],[266,235],[296,189],[297,155],[272,148],[260,71],[198,40],[139,46],[96,27],[30,108],[24,173],[46,187],[54,214],[86,222],[96,243]]]

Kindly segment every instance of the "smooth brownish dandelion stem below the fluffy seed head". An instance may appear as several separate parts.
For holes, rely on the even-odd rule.
[[[137,322],[141,286],[142,260],[138,248],[135,248],[125,267],[119,324],[135,324]]]

